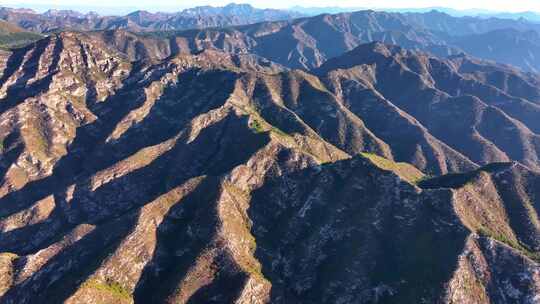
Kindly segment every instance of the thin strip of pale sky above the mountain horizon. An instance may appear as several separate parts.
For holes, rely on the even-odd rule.
[[[80,8],[126,8],[158,10],[180,10],[198,5],[222,6],[232,0],[0,0],[1,6],[34,7],[70,7]],[[486,9],[492,11],[537,11],[540,12],[540,0],[236,0],[250,3],[256,7],[287,8],[301,6],[343,6],[364,8],[413,8],[444,6],[455,9]]]

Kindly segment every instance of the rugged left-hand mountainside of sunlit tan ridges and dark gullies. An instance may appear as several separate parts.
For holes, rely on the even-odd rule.
[[[20,69],[2,82],[0,247],[21,258],[2,255],[2,277],[10,274],[2,302],[116,302],[125,290],[167,297],[182,282],[179,297],[189,298],[229,280],[249,298],[249,286],[269,288],[242,217],[250,190],[266,172],[347,157],[294,116],[296,132],[268,124],[245,88],[268,72],[226,54],[131,64],[62,34],[13,56]],[[176,212],[193,222],[178,222]],[[190,244],[185,256],[165,249],[176,242],[165,241],[164,227],[177,225]],[[194,237],[190,226],[202,230]],[[123,263],[131,273],[119,271]],[[178,269],[155,280],[151,265],[162,263]],[[156,292],[168,276],[171,285]]]

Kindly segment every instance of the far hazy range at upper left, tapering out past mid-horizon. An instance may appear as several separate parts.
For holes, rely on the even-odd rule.
[[[99,16],[94,12],[82,14],[73,10],[48,10],[40,14],[29,9],[0,8],[0,19],[41,33],[65,29],[181,30],[287,20],[301,16],[302,14],[292,11],[256,9],[248,4],[195,7],[177,13],[135,11],[126,16]]]

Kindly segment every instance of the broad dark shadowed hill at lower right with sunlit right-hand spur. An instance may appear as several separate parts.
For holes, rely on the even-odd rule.
[[[512,225],[536,213],[505,212],[536,206],[511,185],[527,180],[537,195],[539,176],[510,166],[455,189],[419,190],[365,159],[270,180],[253,195],[250,214],[272,301],[530,301],[540,287],[537,249],[521,242],[538,232],[516,237]]]

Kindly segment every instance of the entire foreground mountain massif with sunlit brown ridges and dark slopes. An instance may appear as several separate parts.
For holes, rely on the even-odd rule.
[[[534,76],[383,44],[314,74],[75,33],[3,56],[2,303],[537,301]]]

